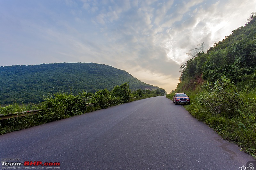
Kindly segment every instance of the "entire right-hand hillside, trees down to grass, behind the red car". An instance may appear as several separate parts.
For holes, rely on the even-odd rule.
[[[188,53],[180,83],[167,94],[185,92],[194,117],[256,158],[256,18],[205,52],[204,43]]]

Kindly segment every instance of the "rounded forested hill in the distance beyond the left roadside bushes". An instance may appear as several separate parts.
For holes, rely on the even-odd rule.
[[[96,92],[129,82],[130,89],[154,90],[124,70],[96,63],[52,63],[0,67],[0,104],[38,103],[48,92]]]

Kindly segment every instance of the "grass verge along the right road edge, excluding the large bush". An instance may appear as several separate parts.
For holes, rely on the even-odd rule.
[[[237,95],[243,105],[235,109],[234,115],[230,115],[225,109],[218,114],[210,105],[199,102],[198,95],[206,93],[201,87],[187,91],[179,88],[178,86],[176,91],[167,94],[166,97],[172,100],[175,92],[185,92],[189,95],[191,104],[184,107],[193,117],[205,122],[223,139],[238,144],[244,152],[256,159],[256,88],[242,89],[238,92]]]

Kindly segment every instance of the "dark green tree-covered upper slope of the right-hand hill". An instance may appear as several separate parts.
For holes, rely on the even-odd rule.
[[[203,78],[207,82],[215,82],[225,75],[238,86],[256,83],[256,19],[251,16],[247,24],[232,31],[223,41],[216,42],[207,53],[204,44],[199,44],[193,58],[183,64],[180,81],[188,89]],[[202,79],[199,80],[202,82]],[[185,83],[186,82],[186,83]],[[182,85],[182,84],[180,84]]]

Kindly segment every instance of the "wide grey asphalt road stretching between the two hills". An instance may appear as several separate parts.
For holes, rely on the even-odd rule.
[[[162,96],[0,136],[1,161],[60,169],[241,169],[255,160],[239,149]]]

